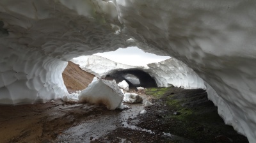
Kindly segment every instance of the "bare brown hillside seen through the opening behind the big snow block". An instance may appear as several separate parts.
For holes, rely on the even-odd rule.
[[[62,73],[62,77],[68,92],[71,93],[85,89],[88,84],[92,82],[93,77],[95,76],[81,70],[78,64],[74,64],[69,61],[67,67]]]

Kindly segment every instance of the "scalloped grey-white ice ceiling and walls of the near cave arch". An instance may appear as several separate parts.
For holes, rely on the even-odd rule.
[[[225,123],[256,142],[255,6],[244,0],[0,1],[0,103],[60,98],[67,93],[61,77],[67,61],[137,46],[192,68]]]

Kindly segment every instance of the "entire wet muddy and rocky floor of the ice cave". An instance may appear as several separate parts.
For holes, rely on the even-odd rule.
[[[144,91],[130,109],[61,101],[0,107],[0,142],[248,142],[226,126],[202,89]],[[146,114],[140,110],[146,109]]]

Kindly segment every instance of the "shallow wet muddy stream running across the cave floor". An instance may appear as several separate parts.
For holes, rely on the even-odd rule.
[[[90,142],[90,140],[99,139],[99,137],[102,137],[121,126],[123,128],[150,132],[127,123],[129,119],[133,119],[140,114],[140,111],[144,109],[143,103],[129,104],[130,109],[125,109],[121,112],[108,111],[90,115],[87,117],[86,121],[75,124],[71,128],[65,130],[61,135],[58,135],[56,141]]]

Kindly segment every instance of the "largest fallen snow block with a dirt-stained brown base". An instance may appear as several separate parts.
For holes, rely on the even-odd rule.
[[[115,110],[120,107],[124,95],[117,84],[113,81],[98,79],[88,85],[81,91],[79,101],[90,103],[102,103],[109,110]]]

